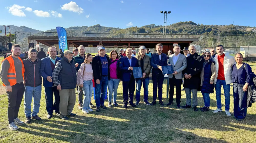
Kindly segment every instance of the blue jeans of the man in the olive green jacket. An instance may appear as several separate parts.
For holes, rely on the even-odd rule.
[[[147,78],[136,78],[136,93],[135,99],[136,101],[140,101],[141,97],[141,85],[143,84],[144,88],[144,102],[147,102],[148,99],[148,84],[149,84],[149,77]]]

